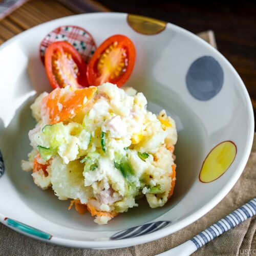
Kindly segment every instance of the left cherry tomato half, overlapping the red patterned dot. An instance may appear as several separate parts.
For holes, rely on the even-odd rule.
[[[54,89],[68,85],[76,88],[88,86],[86,63],[66,41],[53,42],[47,48],[45,66],[47,77]]]

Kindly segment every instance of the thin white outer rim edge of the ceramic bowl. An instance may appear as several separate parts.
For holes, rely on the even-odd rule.
[[[54,20],[51,20],[49,22],[45,22],[42,24],[39,24],[33,28],[30,28],[18,35],[15,35],[11,39],[7,40],[0,46],[0,51],[10,45],[13,41],[25,37],[28,33],[33,32],[34,30],[40,29],[40,27],[45,26],[46,24],[54,24],[56,22],[62,22],[65,24],[66,20],[68,22],[72,21],[73,18],[79,19],[82,18],[83,16],[94,16],[94,17],[109,17],[109,18],[125,18],[128,15],[128,13],[118,13],[118,12],[106,12],[106,13],[83,13],[83,14],[76,14],[76,15],[71,15],[71,16],[66,16],[62,18],[57,18]],[[138,15],[142,16],[142,15]],[[144,16],[146,17],[146,16]],[[60,25],[61,26],[61,25]],[[67,246],[67,247],[73,247],[73,248],[93,248],[93,249],[111,249],[111,248],[122,248],[122,247],[128,247],[128,246],[134,246],[146,242],[151,242],[160,238],[163,238],[165,236],[168,236],[171,233],[174,233],[189,224],[195,222],[202,216],[204,216],[208,211],[210,211],[212,208],[214,208],[231,190],[231,188],[234,186],[234,184],[238,181],[239,177],[241,176],[244,167],[248,161],[250,152],[251,152],[251,147],[252,147],[252,142],[253,142],[253,137],[254,137],[254,116],[253,116],[253,108],[251,104],[251,100],[249,97],[249,94],[247,92],[247,89],[245,87],[245,84],[243,83],[241,77],[237,73],[237,71],[233,68],[233,66],[230,64],[230,62],[214,47],[210,46],[206,41],[201,39],[199,36],[189,32],[186,29],[183,29],[177,25],[174,25],[172,23],[166,23],[166,28],[167,29],[169,26],[172,26],[172,30],[178,31],[179,33],[182,33],[185,36],[193,37],[195,40],[199,42],[199,44],[203,45],[204,47],[210,49],[213,51],[222,61],[223,63],[229,68],[230,71],[232,71],[234,77],[238,81],[239,87],[241,87],[242,92],[245,96],[246,99],[246,105],[247,105],[247,112],[248,112],[248,136],[247,136],[247,142],[246,142],[246,150],[243,153],[242,160],[236,167],[237,172],[231,177],[229,182],[222,187],[222,189],[215,195],[214,198],[212,198],[208,203],[206,203],[203,207],[199,208],[196,210],[193,214],[185,217],[183,220],[179,221],[178,223],[172,224],[170,226],[165,227],[164,229],[157,230],[152,233],[144,234],[143,236],[140,237],[135,237],[135,238],[127,238],[127,239],[122,239],[122,240],[108,240],[108,241],[84,241],[84,240],[70,240],[70,239],[64,239],[64,238],[58,238],[53,236],[51,240],[45,240],[45,239],[40,239],[34,236],[31,236],[28,233],[24,233],[20,230],[14,229],[11,226],[7,225],[6,222],[4,221],[5,216],[3,216],[0,213],[0,221],[8,226],[9,228],[14,229],[15,231],[18,231],[20,233],[26,234],[26,236],[29,236],[31,238],[41,240],[44,242],[48,242],[51,244],[56,244],[56,245],[62,245],[62,246]],[[117,245],[118,244],[118,245]]]

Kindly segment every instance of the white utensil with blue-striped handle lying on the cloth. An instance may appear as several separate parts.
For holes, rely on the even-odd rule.
[[[253,198],[248,203],[231,212],[231,214],[206,228],[194,238],[191,238],[173,249],[160,253],[158,256],[190,255],[203,245],[254,215],[256,215],[256,198]]]

